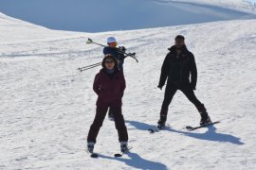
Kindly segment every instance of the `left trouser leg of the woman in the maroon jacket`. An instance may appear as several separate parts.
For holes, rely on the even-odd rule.
[[[107,109],[108,109],[107,107],[97,107],[93,124],[91,125],[88,133],[88,137],[87,137],[88,143],[90,142],[96,143],[96,138],[98,136],[100,128],[102,127],[102,123],[106,116]]]

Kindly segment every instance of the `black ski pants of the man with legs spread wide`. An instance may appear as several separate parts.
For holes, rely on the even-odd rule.
[[[165,89],[165,94],[164,94],[164,101],[162,103],[162,107],[161,107],[161,111],[160,111],[160,115],[164,115],[164,116],[167,115],[169,105],[171,104],[174,94],[177,92],[177,90],[180,90],[182,93],[184,93],[199,112],[206,113],[204,104],[202,104],[196,98],[190,84],[180,85],[180,86],[177,86],[175,84],[167,84],[167,87]]]

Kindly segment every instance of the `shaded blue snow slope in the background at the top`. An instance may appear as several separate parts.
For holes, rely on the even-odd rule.
[[[82,32],[255,19],[254,8],[242,0],[0,0],[0,11],[9,16],[52,29]]]

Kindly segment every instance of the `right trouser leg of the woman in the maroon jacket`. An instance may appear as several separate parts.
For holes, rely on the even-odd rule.
[[[128,132],[124,123],[121,107],[113,107],[112,110],[113,110],[115,125],[119,132],[119,142],[127,142]]]

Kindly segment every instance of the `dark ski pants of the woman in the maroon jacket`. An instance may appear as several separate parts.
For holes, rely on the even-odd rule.
[[[97,107],[96,115],[93,121],[93,124],[90,127],[87,142],[96,143],[96,138],[102,127],[103,121],[105,119],[108,107]],[[121,112],[121,107],[111,107],[116,128],[119,133],[119,142],[127,142],[128,141],[128,132],[124,123],[123,115]]]

